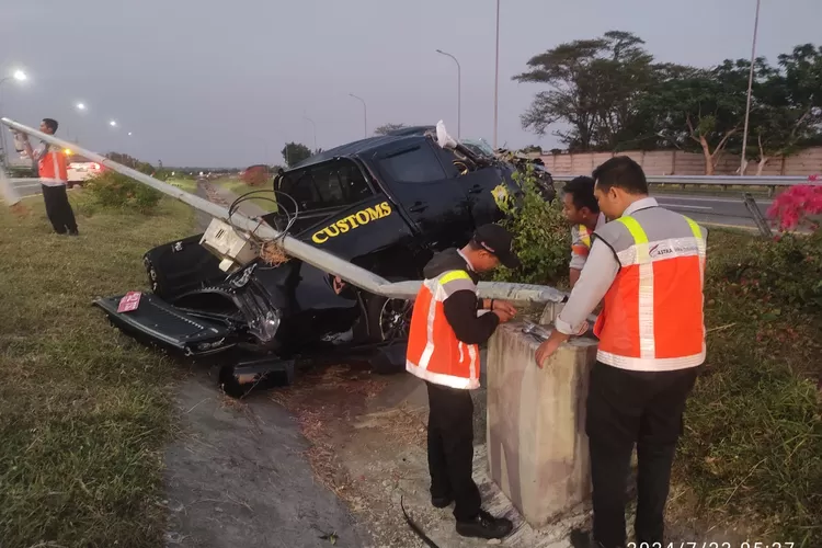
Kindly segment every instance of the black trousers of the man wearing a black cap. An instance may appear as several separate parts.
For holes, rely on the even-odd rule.
[[[468,390],[429,387],[431,495],[454,498],[454,517],[469,521],[482,500],[473,482],[473,401]]]

